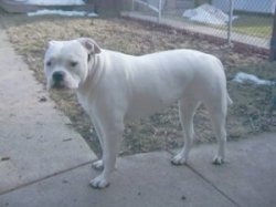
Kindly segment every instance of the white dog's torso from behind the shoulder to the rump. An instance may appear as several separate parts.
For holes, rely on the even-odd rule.
[[[108,51],[108,55],[116,55],[116,61],[123,60],[113,70],[124,71],[120,79],[125,82],[124,87],[127,85],[128,117],[147,116],[183,96],[204,102],[212,94],[217,96],[226,92],[223,66],[210,54],[173,50],[141,56]]]

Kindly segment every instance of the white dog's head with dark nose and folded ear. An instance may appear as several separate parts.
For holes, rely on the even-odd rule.
[[[44,72],[47,89],[77,89],[84,83],[88,65],[100,53],[97,43],[88,38],[71,41],[50,41],[44,56]]]

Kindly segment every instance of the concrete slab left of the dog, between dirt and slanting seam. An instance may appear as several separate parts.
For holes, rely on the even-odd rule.
[[[0,32],[0,194],[95,155]],[[0,205],[1,206],[1,205]]]

